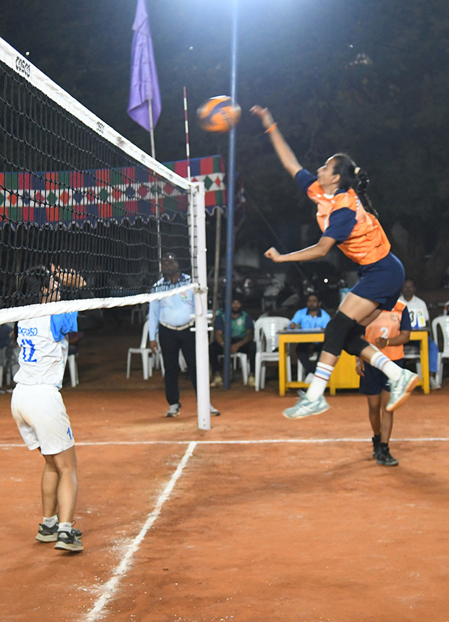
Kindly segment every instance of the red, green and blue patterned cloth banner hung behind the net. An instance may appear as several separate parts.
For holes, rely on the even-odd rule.
[[[166,167],[187,178],[187,161]],[[220,156],[191,160],[192,180],[204,181],[206,209],[224,209],[225,166]],[[37,225],[187,214],[187,195],[140,167],[56,173],[0,173],[0,220]]]

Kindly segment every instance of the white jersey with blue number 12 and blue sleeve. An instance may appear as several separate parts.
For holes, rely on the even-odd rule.
[[[68,355],[69,332],[77,331],[77,312],[21,320],[17,384],[47,384],[61,388]]]

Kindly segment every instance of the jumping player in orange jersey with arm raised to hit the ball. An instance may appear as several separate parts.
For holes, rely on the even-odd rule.
[[[318,169],[316,178],[299,164],[269,110],[253,106],[251,113],[262,121],[284,168],[316,203],[316,220],[323,232],[313,246],[286,255],[270,248],[265,256],[275,263],[309,261],[324,257],[337,244],[346,256],[359,264],[360,281],[327,324],[323,350],[307,393],[300,394],[295,406],[287,408],[283,414],[288,419],[298,419],[327,411],[329,404],[323,394],[341,350],[360,357],[388,376],[390,402],[386,409],[395,411],[417,386],[418,376],[399,367],[362,338],[365,326],[383,309],[394,307],[405,279],[403,265],[390,253],[388,238],[370,213],[370,200],[365,194],[367,176],[345,153],[336,153]]]

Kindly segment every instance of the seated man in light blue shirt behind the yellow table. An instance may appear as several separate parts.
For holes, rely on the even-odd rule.
[[[316,294],[309,294],[306,304],[307,306],[304,309],[296,311],[288,328],[300,328],[301,330],[316,330],[317,328],[321,328],[324,330],[330,319],[330,315],[321,308],[321,301],[318,296]],[[322,342],[298,343],[296,346],[296,356],[304,368],[306,382],[312,381],[310,375],[314,375],[316,361],[320,357],[322,347]],[[311,361],[310,357],[314,355],[314,352],[316,352],[316,359]]]

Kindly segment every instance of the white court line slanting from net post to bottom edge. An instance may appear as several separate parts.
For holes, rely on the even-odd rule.
[[[106,607],[107,603],[111,601],[111,599],[113,599],[113,596],[119,586],[120,578],[122,578],[122,576],[126,574],[126,571],[131,566],[133,555],[139,549],[140,543],[144,539],[146,532],[153,526],[153,523],[155,522],[155,520],[159,518],[162,506],[164,505],[166,500],[169,499],[173,491],[173,488],[175,487],[175,483],[180,478],[180,475],[184,469],[184,466],[186,466],[189,458],[191,458],[191,455],[193,454],[193,451],[195,450],[196,445],[197,443],[195,441],[189,443],[189,446],[187,447],[186,452],[182,456],[181,462],[178,464],[176,471],[171,476],[171,480],[166,485],[160,497],[157,499],[155,509],[153,509],[153,511],[149,513],[149,516],[146,519],[145,525],[140,530],[140,533],[134,538],[131,545],[127,547],[126,553],[124,554],[122,561],[113,570],[113,576],[109,579],[108,583],[105,583],[105,585],[103,586],[102,596],[100,596],[99,599],[97,599],[97,602],[93,606],[93,609],[91,609],[90,612],[88,612],[86,616],[86,622],[95,622],[96,620],[99,620],[102,618],[102,612],[104,610],[104,607]]]

